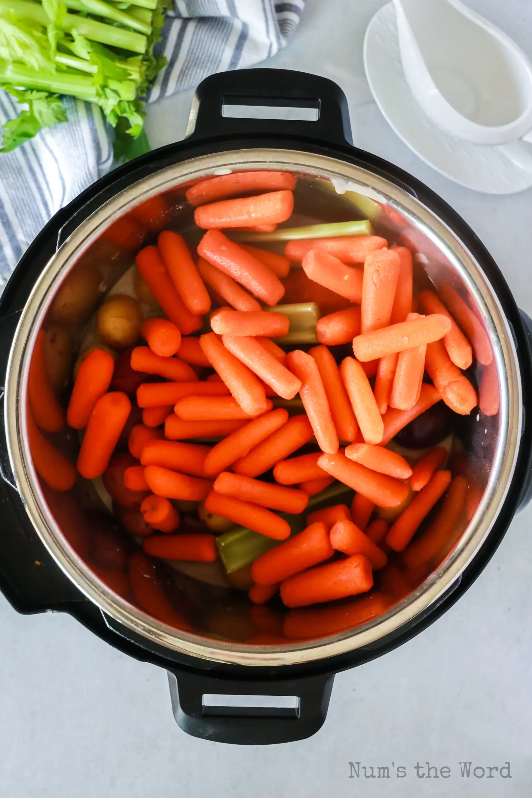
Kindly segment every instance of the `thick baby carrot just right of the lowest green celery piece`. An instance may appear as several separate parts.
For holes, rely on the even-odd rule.
[[[251,577],[258,585],[282,582],[333,554],[325,523],[309,523],[298,535],[259,555],[251,566]]]

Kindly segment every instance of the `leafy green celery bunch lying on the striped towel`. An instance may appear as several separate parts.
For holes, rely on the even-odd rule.
[[[96,103],[115,157],[147,152],[144,102],[166,59],[153,55],[171,0],[0,0],[0,87],[28,105],[3,127],[10,152],[66,120],[60,95]]]

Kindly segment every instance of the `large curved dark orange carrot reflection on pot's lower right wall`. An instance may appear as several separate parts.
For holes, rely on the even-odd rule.
[[[423,563],[428,563],[451,538],[463,516],[466,495],[467,480],[463,476],[455,476],[449,485],[437,518],[428,530],[403,552],[403,561],[408,568],[417,568]]]

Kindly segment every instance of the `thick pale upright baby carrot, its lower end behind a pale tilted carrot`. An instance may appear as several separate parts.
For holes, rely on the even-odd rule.
[[[391,250],[376,250],[365,259],[361,303],[363,333],[389,325],[399,271],[399,255]]]

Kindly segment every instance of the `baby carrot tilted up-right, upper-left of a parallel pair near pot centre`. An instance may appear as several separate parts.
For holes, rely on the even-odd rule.
[[[288,412],[282,408],[250,421],[242,429],[231,433],[211,448],[203,464],[205,472],[210,476],[223,472],[235,460],[246,456],[250,449],[286,424],[286,421],[288,421]]]

